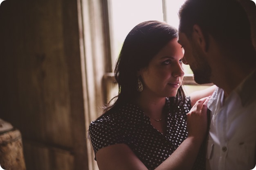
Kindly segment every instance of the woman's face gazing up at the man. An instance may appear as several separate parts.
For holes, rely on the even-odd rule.
[[[141,93],[155,97],[175,96],[184,76],[182,58],[182,46],[175,38],[153,57],[147,68],[140,70],[144,87]]]

